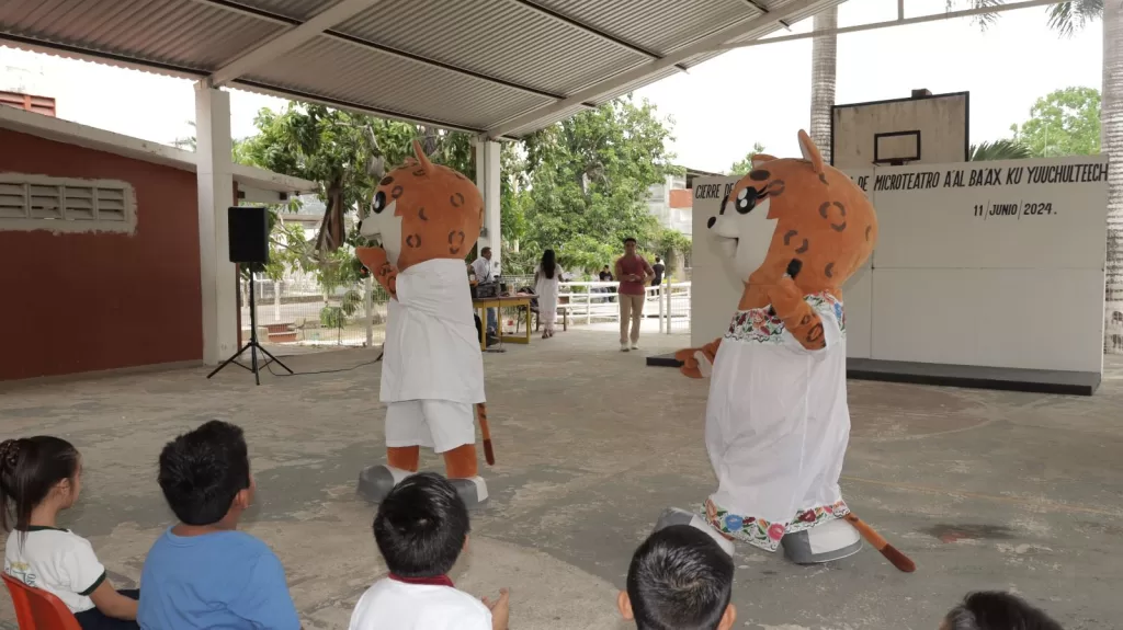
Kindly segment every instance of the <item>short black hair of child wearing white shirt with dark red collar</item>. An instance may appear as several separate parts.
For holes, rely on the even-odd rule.
[[[456,564],[468,538],[468,509],[436,473],[405,478],[374,517],[374,540],[399,577],[436,577]]]

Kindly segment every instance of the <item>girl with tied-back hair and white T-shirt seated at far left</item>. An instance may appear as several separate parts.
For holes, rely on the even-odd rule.
[[[58,512],[81,491],[82,455],[70,442],[0,442],[0,526],[10,531],[3,571],[62,600],[85,630],[137,628],[137,591],[113,589],[90,543],[58,527]]]

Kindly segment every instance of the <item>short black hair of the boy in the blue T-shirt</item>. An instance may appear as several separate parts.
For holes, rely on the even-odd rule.
[[[230,511],[238,492],[249,488],[249,455],[241,428],[210,420],[164,446],[159,488],[185,525],[213,525]]]

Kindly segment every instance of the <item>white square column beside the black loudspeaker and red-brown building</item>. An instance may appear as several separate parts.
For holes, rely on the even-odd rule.
[[[203,362],[238,351],[238,302],[227,209],[234,205],[230,94],[195,84],[199,265],[202,271]]]

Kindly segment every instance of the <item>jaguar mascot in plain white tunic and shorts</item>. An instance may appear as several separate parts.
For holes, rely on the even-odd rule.
[[[417,158],[378,182],[359,234],[381,247],[356,254],[390,294],[381,400],[386,464],[359,474],[359,493],[381,501],[418,471],[420,447],[445,458],[445,473],[469,507],[487,501],[478,474],[475,419],[494,463],[484,407],[484,367],[464,258],[480,237],[484,203],[464,175]]]

